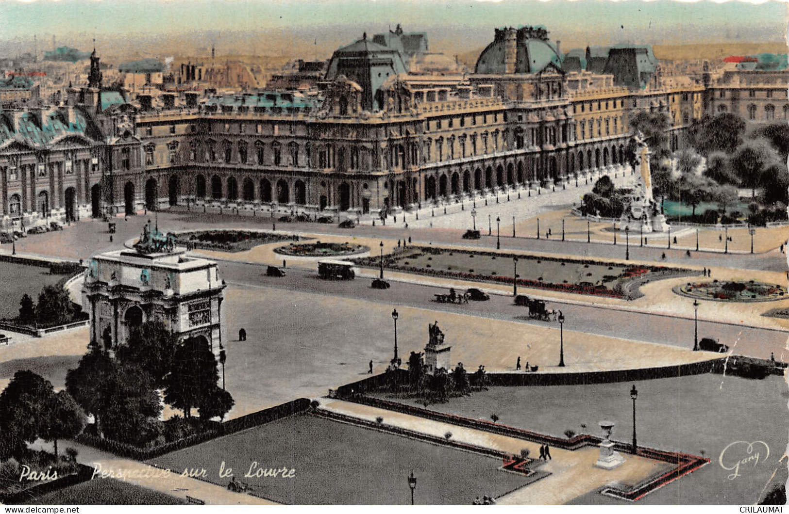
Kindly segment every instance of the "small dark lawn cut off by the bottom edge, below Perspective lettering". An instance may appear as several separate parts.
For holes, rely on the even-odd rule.
[[[26,505],[185,505],[158,491],[115,479],[94,479],[65,487]]]

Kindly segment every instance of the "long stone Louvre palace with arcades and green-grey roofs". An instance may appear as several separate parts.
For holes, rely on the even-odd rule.
[[[427,38],[406,36],[339,48],[312,90],[189,91],[162,108],[101,88],[94,52],[65,105],[0,114],[2,224],[201,203],[379,216],[623,168],[638,111],[667,114],[672,149],[705,116],[789,115],[785,71],[664,76],[643,47],[611,50],[603,73],[567,71],[548,32],[526,27],[496,29],[474,73],[415,75]]]

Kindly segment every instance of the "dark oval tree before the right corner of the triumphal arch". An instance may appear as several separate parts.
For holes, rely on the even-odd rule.
[[[210,396],[218,380],[216,359],[208,341],[190,337],[175,350],[172,370],[165,381],[165,401],[190,418],[192,408],[200,407],[200,401]]]

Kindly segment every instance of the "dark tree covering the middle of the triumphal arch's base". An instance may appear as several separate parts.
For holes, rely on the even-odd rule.
[[[122,363],[136,363],[154,379],[156,387],[164,387],[173,365],[178,339],[158,319],[133,326],[127,344],[118,348]]]

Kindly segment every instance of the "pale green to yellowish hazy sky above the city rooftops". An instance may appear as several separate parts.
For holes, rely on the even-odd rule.
[[[495,27],[522,24],[542,24],[552,39],[572,43],[772,42],[785,39],[787,6],[776,0],[2,0],[0,51],[32,45],[33,34],[39,50],[49,49],[54,35],[58,46],[80,48],[94,37],[189,45],[197,38],[206,47],[224,40],[259,51],[289,37],[350,43],[363,31],[397,23],[428,32],[439,47],[443,40],[477,46],[492,40]]]

